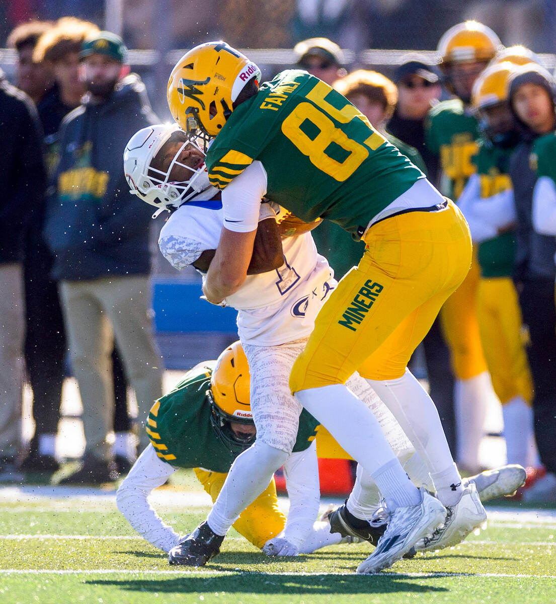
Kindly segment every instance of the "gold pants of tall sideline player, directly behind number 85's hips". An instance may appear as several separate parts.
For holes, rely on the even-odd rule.
[[[442,330],[452,355],[452,369],[462,380],[487,371],[477,316],[479,278],[479,265],[473,257],[467,277],[440,311]]]

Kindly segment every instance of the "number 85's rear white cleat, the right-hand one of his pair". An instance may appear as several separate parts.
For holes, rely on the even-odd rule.
[[[482,506],[475,483],[468,484],[454,506],[446,506],[446,521],[430,537],[415,544],[417,551],[442,550],[461,543],[476,528],[487,527],[487,512]]]

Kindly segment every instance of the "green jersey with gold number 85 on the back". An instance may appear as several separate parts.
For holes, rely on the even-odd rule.
[[[307,222],[332,220],[356,239],[424,178],[347,98],[298,70],[234,109],[206,155],[211,184],[225,188],[255,159],[269,199]]]

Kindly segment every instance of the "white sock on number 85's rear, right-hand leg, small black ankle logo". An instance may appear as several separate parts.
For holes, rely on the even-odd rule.
[[[452,496],[443,501],[438,493],[461,489],[461,477],[453,463],[435,404],[424,388],[406,369],[403,376],[391,380],[368,380],[385,405],[392,411],[401,429],[426,464],[442,503],[452,505]],[[459,495],[458,498],[459,500]]]

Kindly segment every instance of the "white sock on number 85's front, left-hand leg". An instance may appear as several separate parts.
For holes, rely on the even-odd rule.
[[[328,429],[337,443],[370,474],[379,472],[377,483],[391,503],[406,499],[421,501],[411,481],[398,480],[405,472],[394,455],[372,411],[343,384],[309,388],[295,393],[296,398]],[[387,464],[391,463],[391,466]],[[401,490],[400,490],[401,489]],[[402,495],[401,493],[404,493]]]

